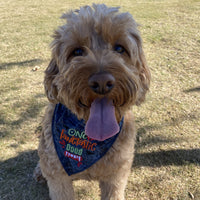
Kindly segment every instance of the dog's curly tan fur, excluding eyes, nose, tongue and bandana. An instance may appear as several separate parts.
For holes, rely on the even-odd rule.
[[[67,23],[55,31],[52,60],[45,71],[44,85],[50,104],[43,122],[37,171],[40,167],[52,200],[73,200],[72,181],[77,179],[98,180],[102,200],[123,200],[136,136],[129,110],[144,101],[150,83],[137,24],[129,13],[119,13],[118,8],[103,4],[82,7],[62,18]],[[116,44],[124,47],[123,54],[114,51]],[[83,49],[82,56],[73,55],[76,48]],[[68,176],[57,157],[51,133],[55,104],[66,105],[87,121],[91,103],[102,97],[91,90],[88,79],[99,72],[110,73],[116,80],[105,96],[113,101],[117,121],[124,116],[124,125],[103,158],[87,170]]]

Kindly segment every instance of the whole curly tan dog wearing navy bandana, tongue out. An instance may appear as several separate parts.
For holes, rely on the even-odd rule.
[[[77,179],[98,180],[102,200],[124,199],[136,137],[131,106],[144,101],[150,72],[136,22],[118,9],[70,11],[53,36],[36,168],[52,200],[73,200]]]

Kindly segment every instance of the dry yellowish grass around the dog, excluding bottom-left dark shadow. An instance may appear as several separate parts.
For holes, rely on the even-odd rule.
[[[97,2],[97,1],[96,1]],[[0,199],[46,200],[33,181],[47,103],[43,71],[53,30],[68,9],[92,1],[0,2]],[[200,1],[110,0],[141,25],[151,91],[135,107],[138,127],[127,200],[200,199]],[[40,68],[32,71],[35,66]],[[99,200],[97,183],[74,183],[77,199]]]

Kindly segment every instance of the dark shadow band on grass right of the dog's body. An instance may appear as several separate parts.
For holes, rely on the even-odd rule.
[[[168,165],[200,165],[200,149],[177,149],[149,153],[136,153],[133,167],[161,167]]]

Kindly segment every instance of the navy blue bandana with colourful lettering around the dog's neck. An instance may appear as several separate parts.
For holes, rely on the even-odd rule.
[[[120,131],[122,125],[123,119],[119,123]],[[84,120],[78,120],[62,104],[57,104],[55,107],[52,121],[54,145],[63,168],[69,176],[84,171],[102,158],[119,133],[104,141],[88,138],[85,134]]]

